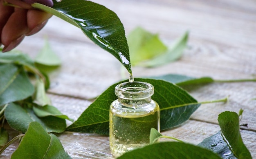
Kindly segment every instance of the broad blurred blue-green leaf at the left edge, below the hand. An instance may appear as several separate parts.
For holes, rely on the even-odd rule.
[[[34,93],[34,86],[22,66],[0,64],[0,83],[0,106],[25,99]]]

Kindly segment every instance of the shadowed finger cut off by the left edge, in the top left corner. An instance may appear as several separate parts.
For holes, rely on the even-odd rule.
[[[0,0],[0,45],[1,45],[1,33],[2,29],[11,16],[11,13],[13,13],[14,9],[13,7],[4,6],[3,1]]]

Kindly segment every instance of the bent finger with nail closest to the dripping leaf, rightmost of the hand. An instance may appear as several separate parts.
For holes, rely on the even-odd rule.
[[[29,9],[27,12],[27,26],[29,27],[29,33],[27,33],[27,36],[33,35],[40,31],[51,16],[51,14],[44,11]]]

